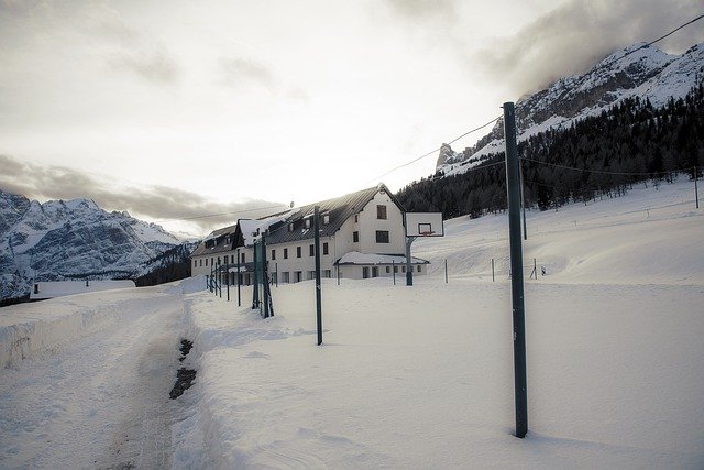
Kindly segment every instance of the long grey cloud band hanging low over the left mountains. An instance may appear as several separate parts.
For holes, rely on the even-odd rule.
[[[215,203],[199,194],[167,186],[117,189],[73,168],[40,166],[8,155],[0,155],[0,167],[3,168],[0,189],[7,193],[38,200],[90,198],[106,210],[127,210],[136,217],[163,222],[187,220],[204,232],[234,223],[238,218],[256,218],[286,208],[268,200]]]

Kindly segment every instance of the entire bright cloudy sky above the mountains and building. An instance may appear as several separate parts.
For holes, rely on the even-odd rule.
[[[0,189],[199,237],[384,182],[702,0],[0,0]],[[698,25],[659,43],[682,53]],[[483,135],[455,144],[462,150]],[[254,210],[261,209],[261,210]]]

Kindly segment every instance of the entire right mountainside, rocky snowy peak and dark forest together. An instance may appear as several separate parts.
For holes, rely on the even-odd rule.
[[[624,61],[629,66],[618,74],[612,70],[615,76],[630,77],[630,81],[622,77],[622,81],[634,85],[627,92],[606,91],[616,86],[612,81],[606,81],[610,84],[604,85],[606,88],[594,85],[602,83],[594,77],[610,69],[612,58],[590,74],[558,81],[549,88],[550,92],[542,91],[519,101],[517,107],[522,110],[522,118],[519,118],[518,154],[522,159],[526,206],[544,210],[571,201],[618,196],[638,182],[669,181],[672,173],[686,173],[694,178],[694,167],[698,167],[697,177],[701,177],[704,162],[702,50],[704,47],[694,46],[682,57],[667,56],[670,57],[667,61],[662,53],[656,54],[660,57],[656,61],[652,52],[645,55],[648,50],[634,50]],[[682,62],[683,58],[691,62]],[[652,75],[654,70],[659,72]],[[579,96],[591,97],[590,100],[575,98],[570,86],[581,90]],[[689,92],[683,92],[685,89]],[[586,107],[580,112],[568,107],[568,103],[576,106],[575,102]],[[554,114],[547,118],[547,113],[558,110],[570,118],[556,120]],[[447,159],[433,177],[404,187],[398,193],[402,204],[410,211],[442,211],[446,218],[466,214],[480,217],[504,210],[506,187],[501,163],[503,131],[499,135],[499,130],[495,128],[481,140],[477,144],[481,149]],[[443,145],[441,156],[451,153],[449,146]],[[471,156],[466,156],[469,154]]]

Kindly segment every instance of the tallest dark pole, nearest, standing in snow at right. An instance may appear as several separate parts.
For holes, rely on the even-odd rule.
[[[520,240],[520,168],[516,147],[516,113],[513,102],[504,103],[506,140],[506,188],[508,192],[508,238],[510,242],[510,292],[514,314],[514,382],[516,398],[516,437],[528,431],[528,394],[526,380],[526,318],[524,311],[524,261]]]

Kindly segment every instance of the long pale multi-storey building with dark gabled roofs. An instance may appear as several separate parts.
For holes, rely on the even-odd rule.
[[[372,278],[406,273],[405,210],[384,184],[293,208],[261,219],[240,219],[215,230],[190,255],[191,275],[229,273],[230,284],[250,285],[254,242],[266,233],[268,273],[274,283],[315,278],[314,212],[320,210],[322,277]],[[429,262],[413,258],[414,274]],[[227,281],[226,281],[227,282]]]

